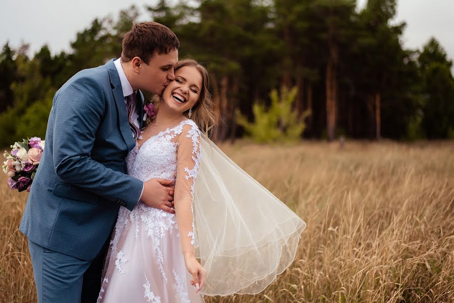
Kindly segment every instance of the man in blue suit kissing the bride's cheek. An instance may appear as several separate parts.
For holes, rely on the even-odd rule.
[[[95,302],[103,257],[120,206],[140,199],[170,208],[170,180],[126,174],[125,157],[143,127],[143,94],[174,79],[179,41],[164,25],[134,25],[121,60],[82,70],[55,94],[46,147],[21,225],[28,237],[38,302]]]

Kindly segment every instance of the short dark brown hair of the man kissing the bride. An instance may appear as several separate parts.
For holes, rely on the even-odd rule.
[[[121,61],[129,62],[134,57],[139,57],[148,64],[155,52],[168,54],[172,49],[180,47],[180,41],[165,25],[157,22],[142,22],[135,24],[125,34],[122,47]]]

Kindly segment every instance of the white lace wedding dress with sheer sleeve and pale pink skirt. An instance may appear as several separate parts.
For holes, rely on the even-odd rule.
[[[200,153],[197,126],[183,120],[150,137],[140,148],[136,144],[126,158],[127,171],[142,181],[175,180],[175,204],[184,201],[180,210],[190,214]],[[192,275],[186,270],[181,248],[194,245],[193,212],[179,220],[180,229],[175,214],[141,201],[132,212],[121,207],[97,302],[205,302],[189,283]]]

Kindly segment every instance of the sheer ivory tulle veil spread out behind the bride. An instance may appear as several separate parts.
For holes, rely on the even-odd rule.
[[[194,184],[195,252],[208,271],[201,293],[259,293],[294,260],[306,223],[201,135]]]

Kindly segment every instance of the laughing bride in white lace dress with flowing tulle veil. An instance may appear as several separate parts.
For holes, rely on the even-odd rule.
[[[208,72],[178,62],[129,175],[175,180],[175,214],[140,201],[118,213],[98,302],[205,302],[258,293],[295,257],[306,223],[208,139]],[[202,132],[203,130],[204,132]]]

